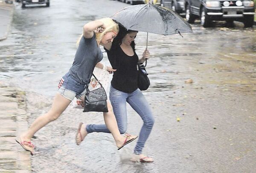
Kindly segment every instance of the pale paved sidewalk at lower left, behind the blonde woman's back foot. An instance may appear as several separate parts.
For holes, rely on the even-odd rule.
[[[0,82],[0,173],[30,173],[30,153],[15,142],[27,129],[25,93]]]

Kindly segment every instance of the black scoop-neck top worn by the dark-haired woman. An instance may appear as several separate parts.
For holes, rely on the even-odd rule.
[[[120,45],[116,46],[116,48],[111,48],[110,51],[105,50],[112,68],[116,69],[113,72],[112,87],[125,93],[132,93],[137,90],[137,63],[139,58],[135,51],[133,56],[128,56]]]

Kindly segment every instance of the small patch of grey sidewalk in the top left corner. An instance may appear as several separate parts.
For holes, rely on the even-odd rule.
[[[14,9],[14,4],[7,4],[4,0],[0,0],[0,41],[5,40],[9,34]]]

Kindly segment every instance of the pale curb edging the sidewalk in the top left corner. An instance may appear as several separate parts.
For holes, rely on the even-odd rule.
[[[10,13],[9,13],[9,25],[6,28],[5,34],[3,36],[0,36],[0,41],[3,41],[3,40],[7,39],[7,36],[9,34],[10,30],[11,30],[13,14],[14,14],[14,10],[15,10],[15,4],[14,3],[7,4],[7,3],[4,3],[2,1],[0,1],[0,9],[10,11]]]

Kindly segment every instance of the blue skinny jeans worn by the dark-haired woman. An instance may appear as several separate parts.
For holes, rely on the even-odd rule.
[[[145,145],[146,140],[151,132],[154,125],[154,117],[151,113],[148,102],[146,101],[144,95],[137,89],[132,93],[125,93],[116,90],[111,86],[110,88],[110,101],[113,107],[113,112],[116,116],[117,125],[121,134],[125,133],[127,130],[127,111],[126,102],[128,102],[131,107],[140,115],[143,119],[143,126],[140,130],[140,136],[137,141],[137,145],[134,148],[135,154],[141,154],[142,149]],[[110,133],[106,125],[87,125],[86,130],[88,133],[92,132],[104,132]]]

